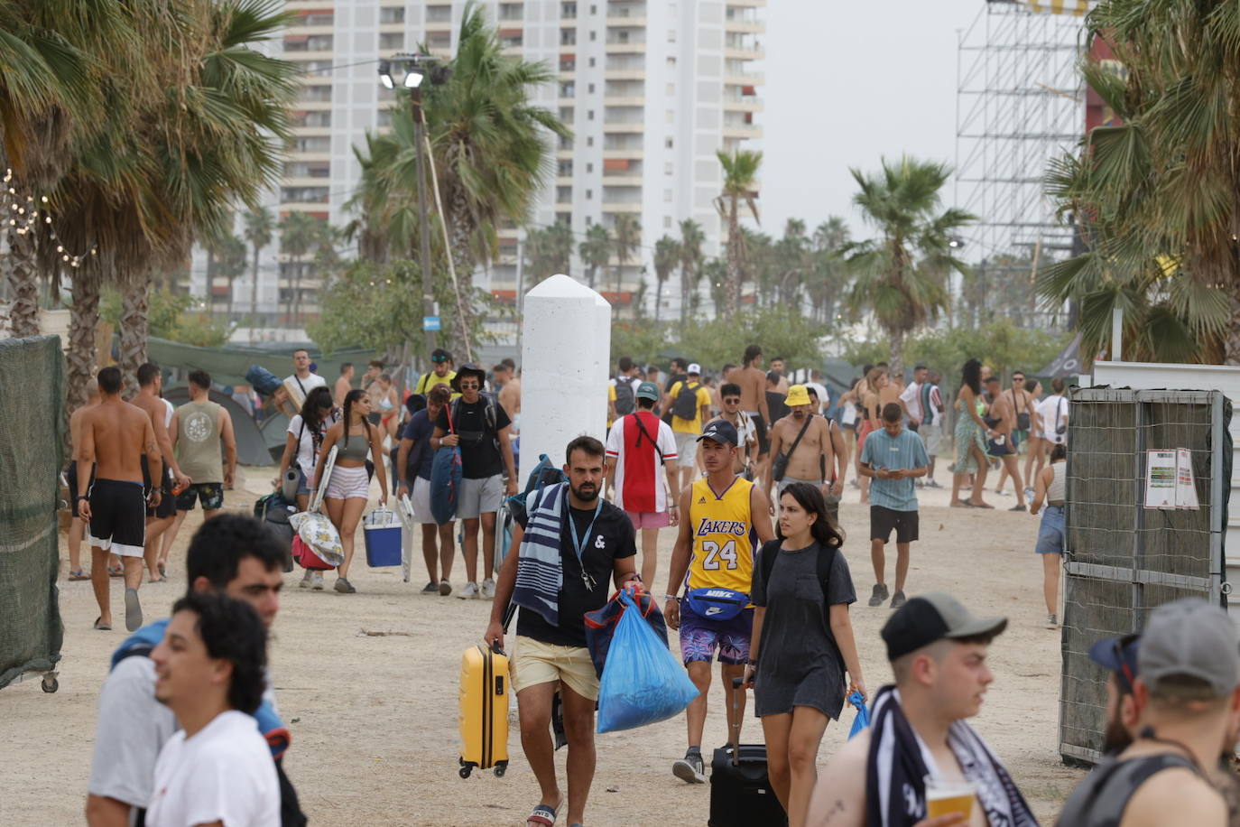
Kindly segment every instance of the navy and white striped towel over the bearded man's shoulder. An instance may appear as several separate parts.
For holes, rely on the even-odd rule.
[[[528,511],[526,533],[517,549],[517,583],[512,603],[537,611],[552,626],[559,626],[559,589],[564,565],[559,557],[560,536],[568,510],[568,484],[548,485]]]

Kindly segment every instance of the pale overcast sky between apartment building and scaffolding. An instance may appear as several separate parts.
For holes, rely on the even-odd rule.
[[[956,42],[982,0],[769,0],[763,45],[766,109],[763,229],[790,217],[812,231],[852,206],[848,167],[877,170],[903,153],[952,162],[956,154]],[[952,187],[945,188],[950,203]]]

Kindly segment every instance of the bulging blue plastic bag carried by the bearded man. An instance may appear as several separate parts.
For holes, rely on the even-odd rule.
[[[621,591],[625,613],[616,622],[599,681],[599,733],[645,727],[681,714],[698,696],[667,643]]]

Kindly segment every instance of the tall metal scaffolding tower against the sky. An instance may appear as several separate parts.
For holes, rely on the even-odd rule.
[[[955,203],[978,217],[965,236],[968,259],[998,279],[1014,268],[1032,281],[1039,263],[1073,249],[1073,227],[1055,218],[1043,181],[1085,130],[1086,5],[987,0],[960,35]]]

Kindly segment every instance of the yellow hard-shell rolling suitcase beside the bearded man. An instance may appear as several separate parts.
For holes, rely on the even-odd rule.
[[[472,646],[461,655],[461,777],[474,769],[508,769],[508,657],[494,648]]]

